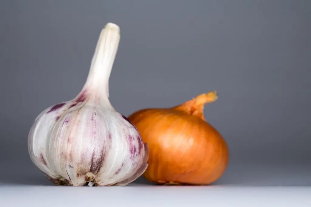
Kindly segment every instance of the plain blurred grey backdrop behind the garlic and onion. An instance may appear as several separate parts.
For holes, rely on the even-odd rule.
[[[121,28],[110,100],[124,115],[217,90],[207,121],[230,164],[215,184],[311,185],[309,0],[0,2],[0,183],[50,185],[27,135],[75,97],[100,30]],[[137,182],[145,182],[140,178]]]

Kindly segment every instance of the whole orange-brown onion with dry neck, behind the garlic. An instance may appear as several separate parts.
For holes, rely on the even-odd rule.
[[[147,108],[128,117],[149,145],[148,181],[158,184],[207,185],[225,172],[229,150],[203,114],[216,91],[200,94],[172,108]]]

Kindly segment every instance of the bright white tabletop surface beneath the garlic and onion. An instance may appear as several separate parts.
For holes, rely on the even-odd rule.
[[[2,207],[32,206],[228,206],[310,207],[311,187],[1,186]]]

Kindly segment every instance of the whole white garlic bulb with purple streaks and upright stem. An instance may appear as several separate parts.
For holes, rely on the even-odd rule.
[[[30,129],[30,158],[55,184],[124,186],[147,168],[147,144],[108,98],[119,40],[118,25],[108,23],[81,92],[45,109]]]

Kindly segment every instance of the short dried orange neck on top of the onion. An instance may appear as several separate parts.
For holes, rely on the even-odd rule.
[[[206,94],[200,94],[197,97],[186,101],[181,105],[175,106],[174,109],[181,110],[192,116],[199,117],[205,121],[203,113],[204,105],[216,101],[217,98],[218,95],[216,91],[210,91]]]

